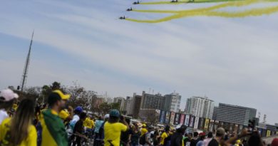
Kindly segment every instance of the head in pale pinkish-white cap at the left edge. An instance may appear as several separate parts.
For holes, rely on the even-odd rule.
[[[11,89],[1,90],[0,93],[0,109],[10,110],[13,107],[14,101],[19,98],[19,95]]]

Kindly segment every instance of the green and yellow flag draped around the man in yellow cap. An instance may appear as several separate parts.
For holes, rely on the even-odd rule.
[[[66,128],[58,113],[49,109],[41,115],[41,146],[68,146]]]

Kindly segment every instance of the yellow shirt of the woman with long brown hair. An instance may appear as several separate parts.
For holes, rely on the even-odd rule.
[[[6,118],[3,120],[3,122],[0,125],[0,143],[2,145],[11,145],[9,143],[9,140],[6,140],[9,135],[7,135],[7,132],[9,133],[9,126],[11,124],[11,118]],[[36,146],[37,142],[37,133],[36,133],[36,127],[34,125],[29,126],[29,132],[25,140],[21,142],[18,146]]]

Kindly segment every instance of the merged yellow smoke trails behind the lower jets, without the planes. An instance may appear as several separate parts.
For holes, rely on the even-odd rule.
[[[274,1],[274,0],[269,0]],[[183,17],[189,17],[189,16],[221,16],[221,17],[246,17],[246,16],[262,16],[264,14],[273,14],[278,11],[278,6],[272,6],[268,8],[261,8],[261,9],[251,9],[251,10],[245,10],[240,12],[225,12],[225,11],[214,11],[217,9],[222,9],[227,6],[235,6],[235,7],[241,7],[241,6],[247,6],[249,4],[259,3],[262,1],[259,0],[248,0],[248,1],[233,1],[233,2],[227,2],[225,4],[219,4],[216,6],[210,6],[207,8],[201,8],[201,9],[192,9],[192,10],[182,10],[182,11],[168,11],[168,10],[135,10],[138,12],[146,12],[146,13],[170,13],[173,14],[172,16],[166,16],[163,19],[156,19],[156,20],[138,20],[138,19],[126,19],[128,21],[135,21],[140,23],[159,23],[163,21],[170,21],[173,19],[180,19]]]

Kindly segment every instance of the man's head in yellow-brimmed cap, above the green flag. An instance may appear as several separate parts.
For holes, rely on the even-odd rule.
[[[53,90],[48,96],[48,105],[51,109],[58,110],[58,112],[60,112],[66,108],[66,101],[70,97],[71,95],[65,95],[61,92],[61,90]]]

